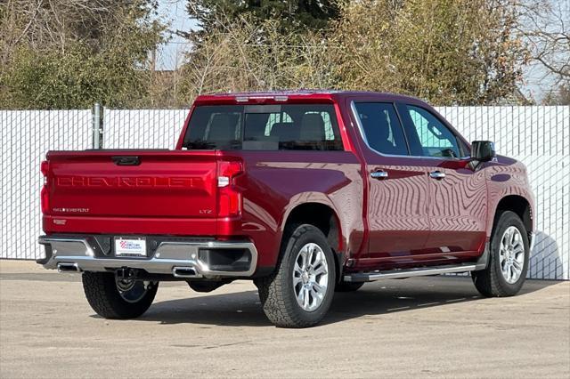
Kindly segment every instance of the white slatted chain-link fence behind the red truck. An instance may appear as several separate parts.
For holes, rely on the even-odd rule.
[[[536,196],[530,278],[570,278],[570,107],[443,107],[468,139],[522,160]],[[103,147],[173,149],[187,109],[104,109]],[[90,110],[0,111],[1,258],[35,259],[41,232],[39,163],[48,149],[91,147]]]

